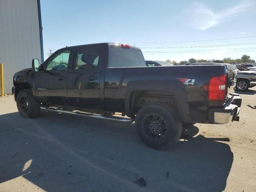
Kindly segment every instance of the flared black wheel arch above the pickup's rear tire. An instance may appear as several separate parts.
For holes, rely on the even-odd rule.
[[[128,82],[127,92],[125,94],[125,112],[129,117],[134,116],[134,112],[136,112],[136,110],[134,110],[134,104],[138,101],[138,96],[148,97],[150,98],[149,101],[152,101],[152,103],[170,103],[178,111],[182,123],[192,122],[186,88],[180,81],[135,80]],[[148,102],[146,104],[148,104]],[[137,110],[139,110],[139,108]]]

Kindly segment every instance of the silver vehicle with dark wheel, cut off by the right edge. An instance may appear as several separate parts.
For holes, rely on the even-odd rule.
[[[236,90],[246,91],[256,86],[256,71],[238,71],[236,76]]]

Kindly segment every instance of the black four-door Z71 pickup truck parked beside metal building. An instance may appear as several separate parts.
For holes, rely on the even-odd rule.
[[[44,109],[135,120],[142,141],[164,149],[179,140],[182,124],[239,120],[235,75],[225,65],[147,67],[139,48],[100,43],[62,48],[41,65],[32,60],[14,75],[12,93],[25,118]]]

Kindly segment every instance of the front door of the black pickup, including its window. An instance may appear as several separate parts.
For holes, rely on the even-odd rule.
[[[70,50],[61,50],[44,63],[44,70],[35,75],[35,90],[39,102],[67,105],[67,76]]]

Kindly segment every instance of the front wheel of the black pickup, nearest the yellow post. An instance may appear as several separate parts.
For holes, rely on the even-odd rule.
[[[18,111],[24,118],[34,118],[40,114],[40,105],[30,89],[21,90],[16,99]]]

